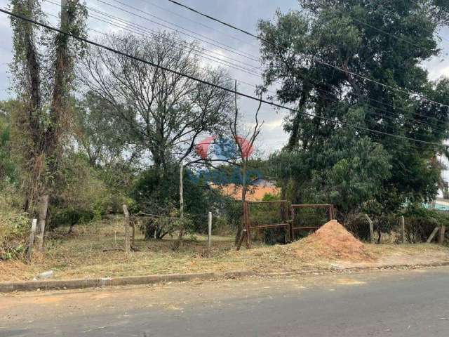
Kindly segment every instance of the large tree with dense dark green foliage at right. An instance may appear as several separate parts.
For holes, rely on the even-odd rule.
[[[298,152],[304,163],[294,175],[295,199],[307,201],[317,195],[314,190],[344,211],[368,199],[391,211],[406,199],[434,197],[440,169],[432,163],[442,147],[338,121],[432,143],[448,138],[443,106],[449,103],[448,81],[431,83],[422,67],[438,55],[436,30],[448,22],[446,1],[299,3],[304,11],[278,12],[275,22],[259,25],[266,40],[261,47],[265,84],[279,81],[276,98],[299,111],[285,126],[290,134],[285,151]]]

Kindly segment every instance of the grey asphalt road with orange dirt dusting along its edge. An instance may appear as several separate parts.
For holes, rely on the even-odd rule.
[[[2,337],[447,337],[449,268],[15,294],[0,319]]]

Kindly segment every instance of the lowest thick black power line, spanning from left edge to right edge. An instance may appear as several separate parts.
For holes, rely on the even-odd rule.
[[[386,132],[383,132],[383,131],[372,130],[370,128],[366,128],[366,127],[363,127],[363,126],[355,126],[353,124],[349,124],[349,123],[344,122],[344,121],[335,121],[334,119],[330,119],[328,117],[317,116],[316,114],[311,114],[309,112],[302,112],[300,110],[296,110],[296,109],[293,109],[291,107],[286,107],[286,106],[280,105],[278,103],[269,102],[268,100],[264,100],[262,98],[257,98],[257,97],[255,97],[253,95],[248,95],[246,93],[241,93],[239,91],[232,90],[231,88],[227,88],[225,86],[221,86],[221,85],[218,85],[218,84],[213,84],[213,83],[210,83],[210,82],[205,81],[203,79],[199,79],[197,77],[193,77],[193,76],[190,76],[190,75],[187,75],[187,74],[183,74],[182,72],[178,72],[177,70],[172,70],[172,69],[169,69],[167,67],[163,67],[161,65],[156,65],[156,63],[154,63],[154,62],[151,62],[151,61],[148,61],[148,60],[144,60],[142,58],[139,58],[139,57],[134,56],[134,55],[130,55],[128,53],[123,53],[121,51],[117,51],[114,48],[111,48],[111,47],[99,44],[99,43],[97,43],[95,41],[91,41],[91,40],[86,39],[84,37],[79,37],[79,36],[77,36],[75,34],[72,34],[72,33],[69,33],[69,32],[62,31],[61,29],[58,29],[58,28],[52,27],[50,25],[47,25],[45,23],[38,22],[36,20],[27,18],[27,17],[25,17],[23,15],[12,13],[11,11],[7,11],[7,10],[5,10],[3,8],[0,8],[0,12],[6,13],[6,14],[8,14],[10,16],[13,16],[15,18],[18,18],[20,20],[25,20],[27,22],[31,22],[34,25],[39,25],[40,27],[53,30],[53,32],[58,32],[60,34],[65,34],[68,37],[72,37],[74,39],[78,39],[79,41],[82,41],[82,42],[84,42],[86,44],[91,44],[92,46],[96,46],[98,48],[105,49],[106,51],[110,51],[112,53],[116,53],[117,55],[121,55],[121,56],[124,56],[126,58],[131,58],[133,60],[145,63],[147,65],[151,65],[152,67],[159,68],[160,70],[163,70],[163,71],[166,71],[166,72],[171,72],[173,74],[176,74],[177,76],[185,77],[187,79],[191,79],[192,81],[197,81],[197,82],[199,82],[201,84],[205,84],[207,86],[212,86],[213,88],[217,88],[217,89],[220,89],[222,91],[227,91],[229,93],[234,93],[234,94],[239,95],[241,97],[249,98],[250,100],[255,100],[255,101],[259,102],[259,103],[264,103],[264,104],[271,105],[271,106],[274,106],[274,107],[278,107],[278,108],[281,108],[281,109],[289,110],[290,112],[303,114],[304,116],[314,117],[314,118],[321,119],[323,121],[328,121],[330,123],[341,124],[341,125],[344,125],[344,126],[349,126],[351,128],[356,128],[358,130],[368,131],[368,132],[372,132],[372,133],[377,133],[377,134],[381,134],[381,135],[384,135],[384,136],[391,136],[391,137],[394,137],[394,138],[403,139],[403,140],[410,140],[410,141],[417,142],[417,143],[422,143],[422,144],[436,145],[438,147],[448,147],[449,146],[449,145],[443,145],[443,144],[440,144],[440,143],[428,142],[426,140],[418,140],[418,139],[409,138],[409,137],[406,137],[406,136],[395,135],[395,134],[392,134],[392,133],[386,133]]]

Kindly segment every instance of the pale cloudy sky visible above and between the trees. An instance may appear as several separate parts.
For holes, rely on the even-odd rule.
[[[179,1],[187,6],[208,13],[215,18],[229,22],[236,27],[241,27],[254,33],[257,31],[258,20],[272,20],[276,9],[279,9],[281,12],[286,12],[290,9],[300,9],[297,0]],[[55,4],[51,4],[51,2]],[[6,8],[8,3],[9,1],[7,0],[0,0],[1,8]],[[52,15],[58,15],[60,8],[57,4],[59,3],[60,0],[42,1],[43,11]],[[260,77],[235,69],[235,67],[239,66],[245,67],[246,69],[253,66],[251,68],[252,72],[260,72],[260,70],[257,70],[257,67],[260,65],[257,65],[257,62],[254,60],[259,56],[259,44],[254,38],[196,15],[187,11],[185,8],[175,6],[167,0],[86,0],[86,4],[88,7],[94,8],[94,10],[91,9],[89,12],[98,17],[102,17],[103,13],[114,15],[121,20],[133,22],[147,29],[170,30],[168,27],[172,27],[178,31],[180,37],[187,41],[192,41],[194,39],[193,37],[201,39],[203,41],[200,41],[200,43],[207,50],[206,53],[213,57],[227,60],[233,66],[225,68],[229,71],[230,77],[241,81],[239,83],[240,91],[254,95],[255,88],[253,86],[262,84]],[[133,8],[128,6],[132,6]],[[57,22],[57,19],[52,16],[48,16],[48,20],[53,25]],[[107,20],[111,21],[113,19],[109,17]],[[117,23],[123,28],[95,18],[89,18],[88,27],[105,33],[121,30],[126,31],[130,27],[127,24],[123,24],[123,22],[116,21]],[[145,28],[140,28],[140,32]],[[2,32],[0,44],[0,100],[4,100],[11,97],[11,92],[8,91],[10,86],[8,63],[11,62],[13,53],[11,27],[9,26],[8,17],[3,13],[0,13],[0,32]],[[90,38],[95,38],[100,35],[98,32],[91,30],[88,31],[88,34]],[[429,77],[431,79],[438,79],[438,77],[443,75],[449,76],[449,29],[443,30],[441,36],[443,37],[441,41],[443,53],[438,58],[434,58],[423,65],[429,71]],[[217,62],[215,61],[203,59],[201,62],[204,65],[217,66]],[[243,63],[246,65],[243,65]],[[242,82],[245,82],[245,84]],[[248,84],[253,86],[249,86]],[[245,115],[246,122],[250,124],[253,121],[257,103],[241,98],[239,105]],[[285,114],[286,112],[276,111],[272,107],[262,106],[260,119],[264,121],[264,126],[257,141],[257,147],[261,154],[279,150],[286,143],[287,135],[283,131],[283,118]]]

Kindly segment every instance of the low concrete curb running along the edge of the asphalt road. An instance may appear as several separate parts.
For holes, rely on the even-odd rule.
[[[0,293],[11,293],[15,291],[36,291],[36,290],[60,290],[60,289],[86,289],[99,288],[102,286],[128,286],[142,284],[158,284],[164,282],[188,282],[194,280],[208,279],[236,279],[239,277],[291,277],[307,275],[323,275],[330,273],[351,273],[364,272],[370,270],[401,270],[417,269],[422,267],[444,267],[448,266],[449,261],[441,263],[429,263],[420,265],[384,265],[378,267],[351,267],[351,268],[330,268],[321,270],[297,270],[290,272],[259,273],[251,270],[235,270],[222,274],[214,272],[205,272],[199,274],[168,274],[168,275],[147,275],[132,277],[103,277],[96,279],[53,279],[42,281],[24,281],[24,282],[0,282]]]

